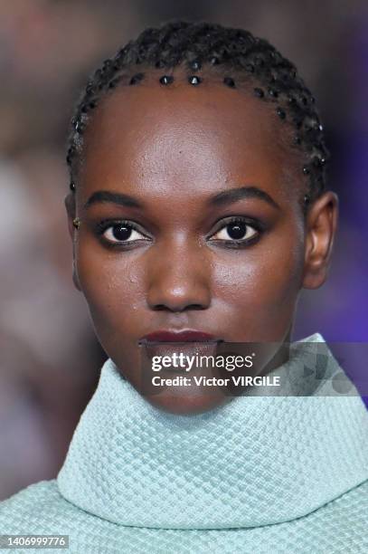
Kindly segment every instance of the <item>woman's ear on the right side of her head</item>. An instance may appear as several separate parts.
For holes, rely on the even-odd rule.
[[[338,197],[332,191],[317,198],[309,208],[302,282],[305,289],[317,289],[326,281],[337,217]]]

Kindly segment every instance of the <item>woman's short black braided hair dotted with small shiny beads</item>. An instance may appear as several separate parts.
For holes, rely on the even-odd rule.
[[[205,66],[217,75],[220,73],[223,84],[231,89],[237,87],[235,76],[245,78],[256,97],[274,103],[280,121],[288,122],[294,129],[292,146],[304,155],[305,163],[300,170],[308,179],[304,197],[307,210],[307,205],[326,188],[329,158],[314,97],[295,65],[268,41],[243,29],[202,22],[173,21],[147,28],[94,72],[71,119],[67,152],[71,190],[75,190],[75,167],[83,145],[83,131],[99,101],[118,83],[139,84],[145,78],[146,68],[162,69],[159,82],[170,85],[174,77],[165,73],[180,64],[186,66],[188,83],[193,86],[203,81],[201,70]],[[142,71],[137,71],[139,66]]]

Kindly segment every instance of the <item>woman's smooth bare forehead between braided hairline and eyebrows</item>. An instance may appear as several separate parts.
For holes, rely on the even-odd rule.
[[[125,187],[134,194],[136,186],[157,195],[175,184],[200,195],[250,183],[288,196],[296,164],[275,108],[223,84],[151,79],[121,86],[86,130],[82,191]]]

